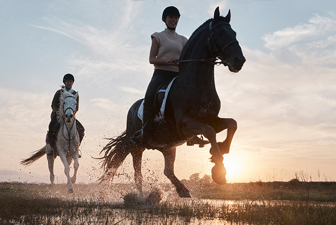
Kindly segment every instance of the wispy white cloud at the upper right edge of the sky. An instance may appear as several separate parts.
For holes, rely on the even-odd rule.
[[[263,37],[265,47],[287,63],[312,63],[334,67],[336,20],[315,15],[308,24],[297,25]]]

